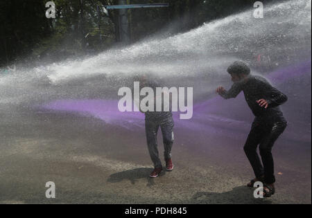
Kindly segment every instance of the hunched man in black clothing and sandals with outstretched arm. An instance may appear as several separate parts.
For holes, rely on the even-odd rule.
[[[245,100],[256,117],[244,146],[245,154],[256,175],[256,179],[252,179],[248,186],[253,187],[255,182],[261,181],[264,183],[263,196],[270,197],[275,194],[274,162],[271,151],[275,141],[287,126],[279,105],[284,104],[288,98],[272,87],[266,79],[258,75],[250,75],[250,68],[245,62],[234,62],[227,72],[232,76],[234,84],[229,91],[218,87],[217,93],[229,99],[236,98],[243,91]],[[257,154],[258,145],[262,163]]]

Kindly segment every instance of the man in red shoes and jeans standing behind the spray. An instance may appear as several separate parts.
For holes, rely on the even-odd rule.
[[[140,90],[144,87],[150,87],[156,93],[156,88],[161,87],[155,79],[147,78],[146,75],[140,76],[138,78],[140,82]],[[150,153],[150,158],[154,163],[154,170],[150,173],[151,178],[159,176],[162,172],[162,161],[159,159],[159,153],[157,149],[157,132],[159,127],[162,131],[162,138],[164,143],[164,159],[166,161],[166,170],[173,170],[173,162],[171,158],[171,149],[173,146],[173,116],[171,111],[164,110],[164,104],[162,102],[162,111],[156,111],[156,98],[155,97],[155,108],[154,111],[145,112],[145,129],[146,129],[146,139],[148,144],[148,152]],[[136,105],[139,105],[136,102]]]

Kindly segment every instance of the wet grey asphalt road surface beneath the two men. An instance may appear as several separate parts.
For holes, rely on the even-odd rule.
[[[71,113],[0,115],[0,203],[311,203],[311,142],[281,137],[277,192],[254,199],[241,136],[176,127],[175,169],[150,179],[144,129]],[[45,197],[47,181],[55,199]]]

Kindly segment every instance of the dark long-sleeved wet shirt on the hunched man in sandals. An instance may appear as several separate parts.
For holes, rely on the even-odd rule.
[[[284,93],[281,93],[275,87],[261,76],[250,75],[247,80],[234,82],[229,91],[225,91],[221,96],[225,99],[236,98],[243,91],[248,106],[257,118],[270,118],[272,120],[284,119],[283,113],[279,105],[284,104],[288,100]],[[260,107],[257,100],[267,100],[268,108]]]

